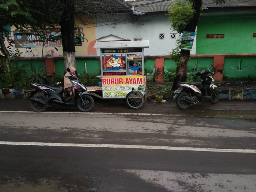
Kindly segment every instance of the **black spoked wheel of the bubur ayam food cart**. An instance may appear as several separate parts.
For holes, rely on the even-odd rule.
[[[145,100],[141,92],[131,91],[127,94],[125,101],[131,109],[139,109],[143,106]]]

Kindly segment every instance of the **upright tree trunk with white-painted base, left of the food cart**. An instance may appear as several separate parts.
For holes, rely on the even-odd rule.
[[[60,21],[62,48],[64,56],[64,70],[68,67],[76,68],[75,55],[75,6],[74,0],[63,0],[65,5]]]

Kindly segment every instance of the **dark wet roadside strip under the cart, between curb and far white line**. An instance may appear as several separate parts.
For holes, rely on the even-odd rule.
[[[26,99],[0,99],[0,111],[32,111],[30,101]],[[78,108],[51,108],[48,111],[80,112]],[[91,112],[103,113],[147,113],[179,116],[218,117],[256,119],[256,100],[220,100],[216,104],[199,102],[186,110],[180,110],[174,100],[154,102],[148,100],[138,110],[130,109],[124,100],[95,100]]]

